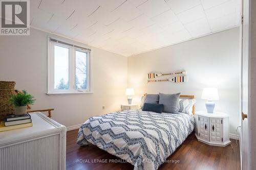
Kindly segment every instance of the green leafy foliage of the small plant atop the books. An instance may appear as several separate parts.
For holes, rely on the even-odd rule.
[[[33,105],[35,102],[34,96],[27,93],[26,90],[22,90],[22,93],[11,94],[10,95],[10,103],[14,106],[26,106]]]

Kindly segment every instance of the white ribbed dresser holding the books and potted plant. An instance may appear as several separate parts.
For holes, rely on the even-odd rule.
[[[32,127],[0,132],[0,169],[66,169],[66,127],[31,113]]]

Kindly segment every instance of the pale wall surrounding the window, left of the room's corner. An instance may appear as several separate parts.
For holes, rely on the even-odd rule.
[[[31,29],[30,36],[0,36],[0,80],[34,95],[32,109],[54,108],[53,119],[67,127],[119,110],[126,102],[127,58],[98,48],[92,48],[93,94],[46,95],[47,35]]]

